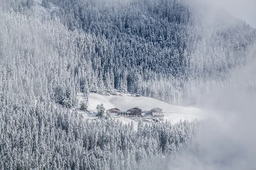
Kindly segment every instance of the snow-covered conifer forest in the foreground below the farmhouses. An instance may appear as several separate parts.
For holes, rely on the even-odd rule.
[[[1,169],[165,169],[183,148],[193,146],[198,122],[122,125],[87,121],[76,112],[41,102],[1,105]],[[193,152],[193,150],[191,150]],[[164,156],[164,157],[163,157]]]

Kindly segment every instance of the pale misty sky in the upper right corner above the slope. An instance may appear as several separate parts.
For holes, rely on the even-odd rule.
[[[208,0],[256,28],[256,0]]]

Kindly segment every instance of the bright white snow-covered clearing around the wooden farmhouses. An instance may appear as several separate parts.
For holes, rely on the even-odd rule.
[[[78,93],[78,99],[81,101],[83,99],[83,94]],[[127,94],[123,94],[123,96],[103,96],[100,94],[91,93],[88,98],[88,110],[94,111],[96,110],[96,106],[99,104],[103,104],[105,109],[111,108],[119,108],[120,110],[127,110],[129,108],[138,107],[144,111],[150,111],[152,108],[162,108],[164,112],[164,119],[167,119],[172,124],[175,124],[181,120],[189,120],[192,121],[194,119],[204,119],[205,112],[199,108],[194,107],[181,107],[169,105],[168,103],[161,102],[157,99],[153,99],[150,97],[133,97]],[[95,116],[90,116],[90,114],[83,114],[84,119],[94,119]],[[131,123],[133,120],[117,117],[123,123]],[[134,128],[137,129],[138,122],[134,122]]]

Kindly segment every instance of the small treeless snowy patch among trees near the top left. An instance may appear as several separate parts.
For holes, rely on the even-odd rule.
[[[59,8],[59,6],[56,6],[53,3],[50,3],[50,6],[50,9],[44,8],[44,6],[42,6],[42,0],[34,0],[33,10],[35,16],[38,17],[39,20],[42,20],[44,15],[45,17],[49,17],[53,10],[58,10]]]

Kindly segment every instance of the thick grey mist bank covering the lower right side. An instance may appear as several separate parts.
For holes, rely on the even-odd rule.
[[[250,55],[256,56],[253,45]],[[196,155],[183,155],[175,170],[256,170],[256,59],[230,74],[232,86],[212,91],[198,134]],[[235,85],[237,83],[237,85]],[[255,88],[254,88],[255,89]]]

